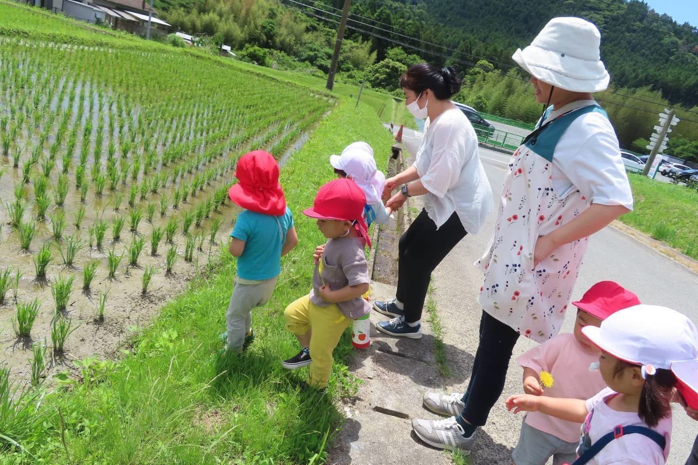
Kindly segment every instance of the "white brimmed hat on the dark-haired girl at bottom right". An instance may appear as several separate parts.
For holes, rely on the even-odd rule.
[[[618,310],[601,327],[585,326],[582,334],[614,357],[639,364],[643,375],[670,369],[676,360],[698,358],[698,330],[678,311],[639,304]]]

